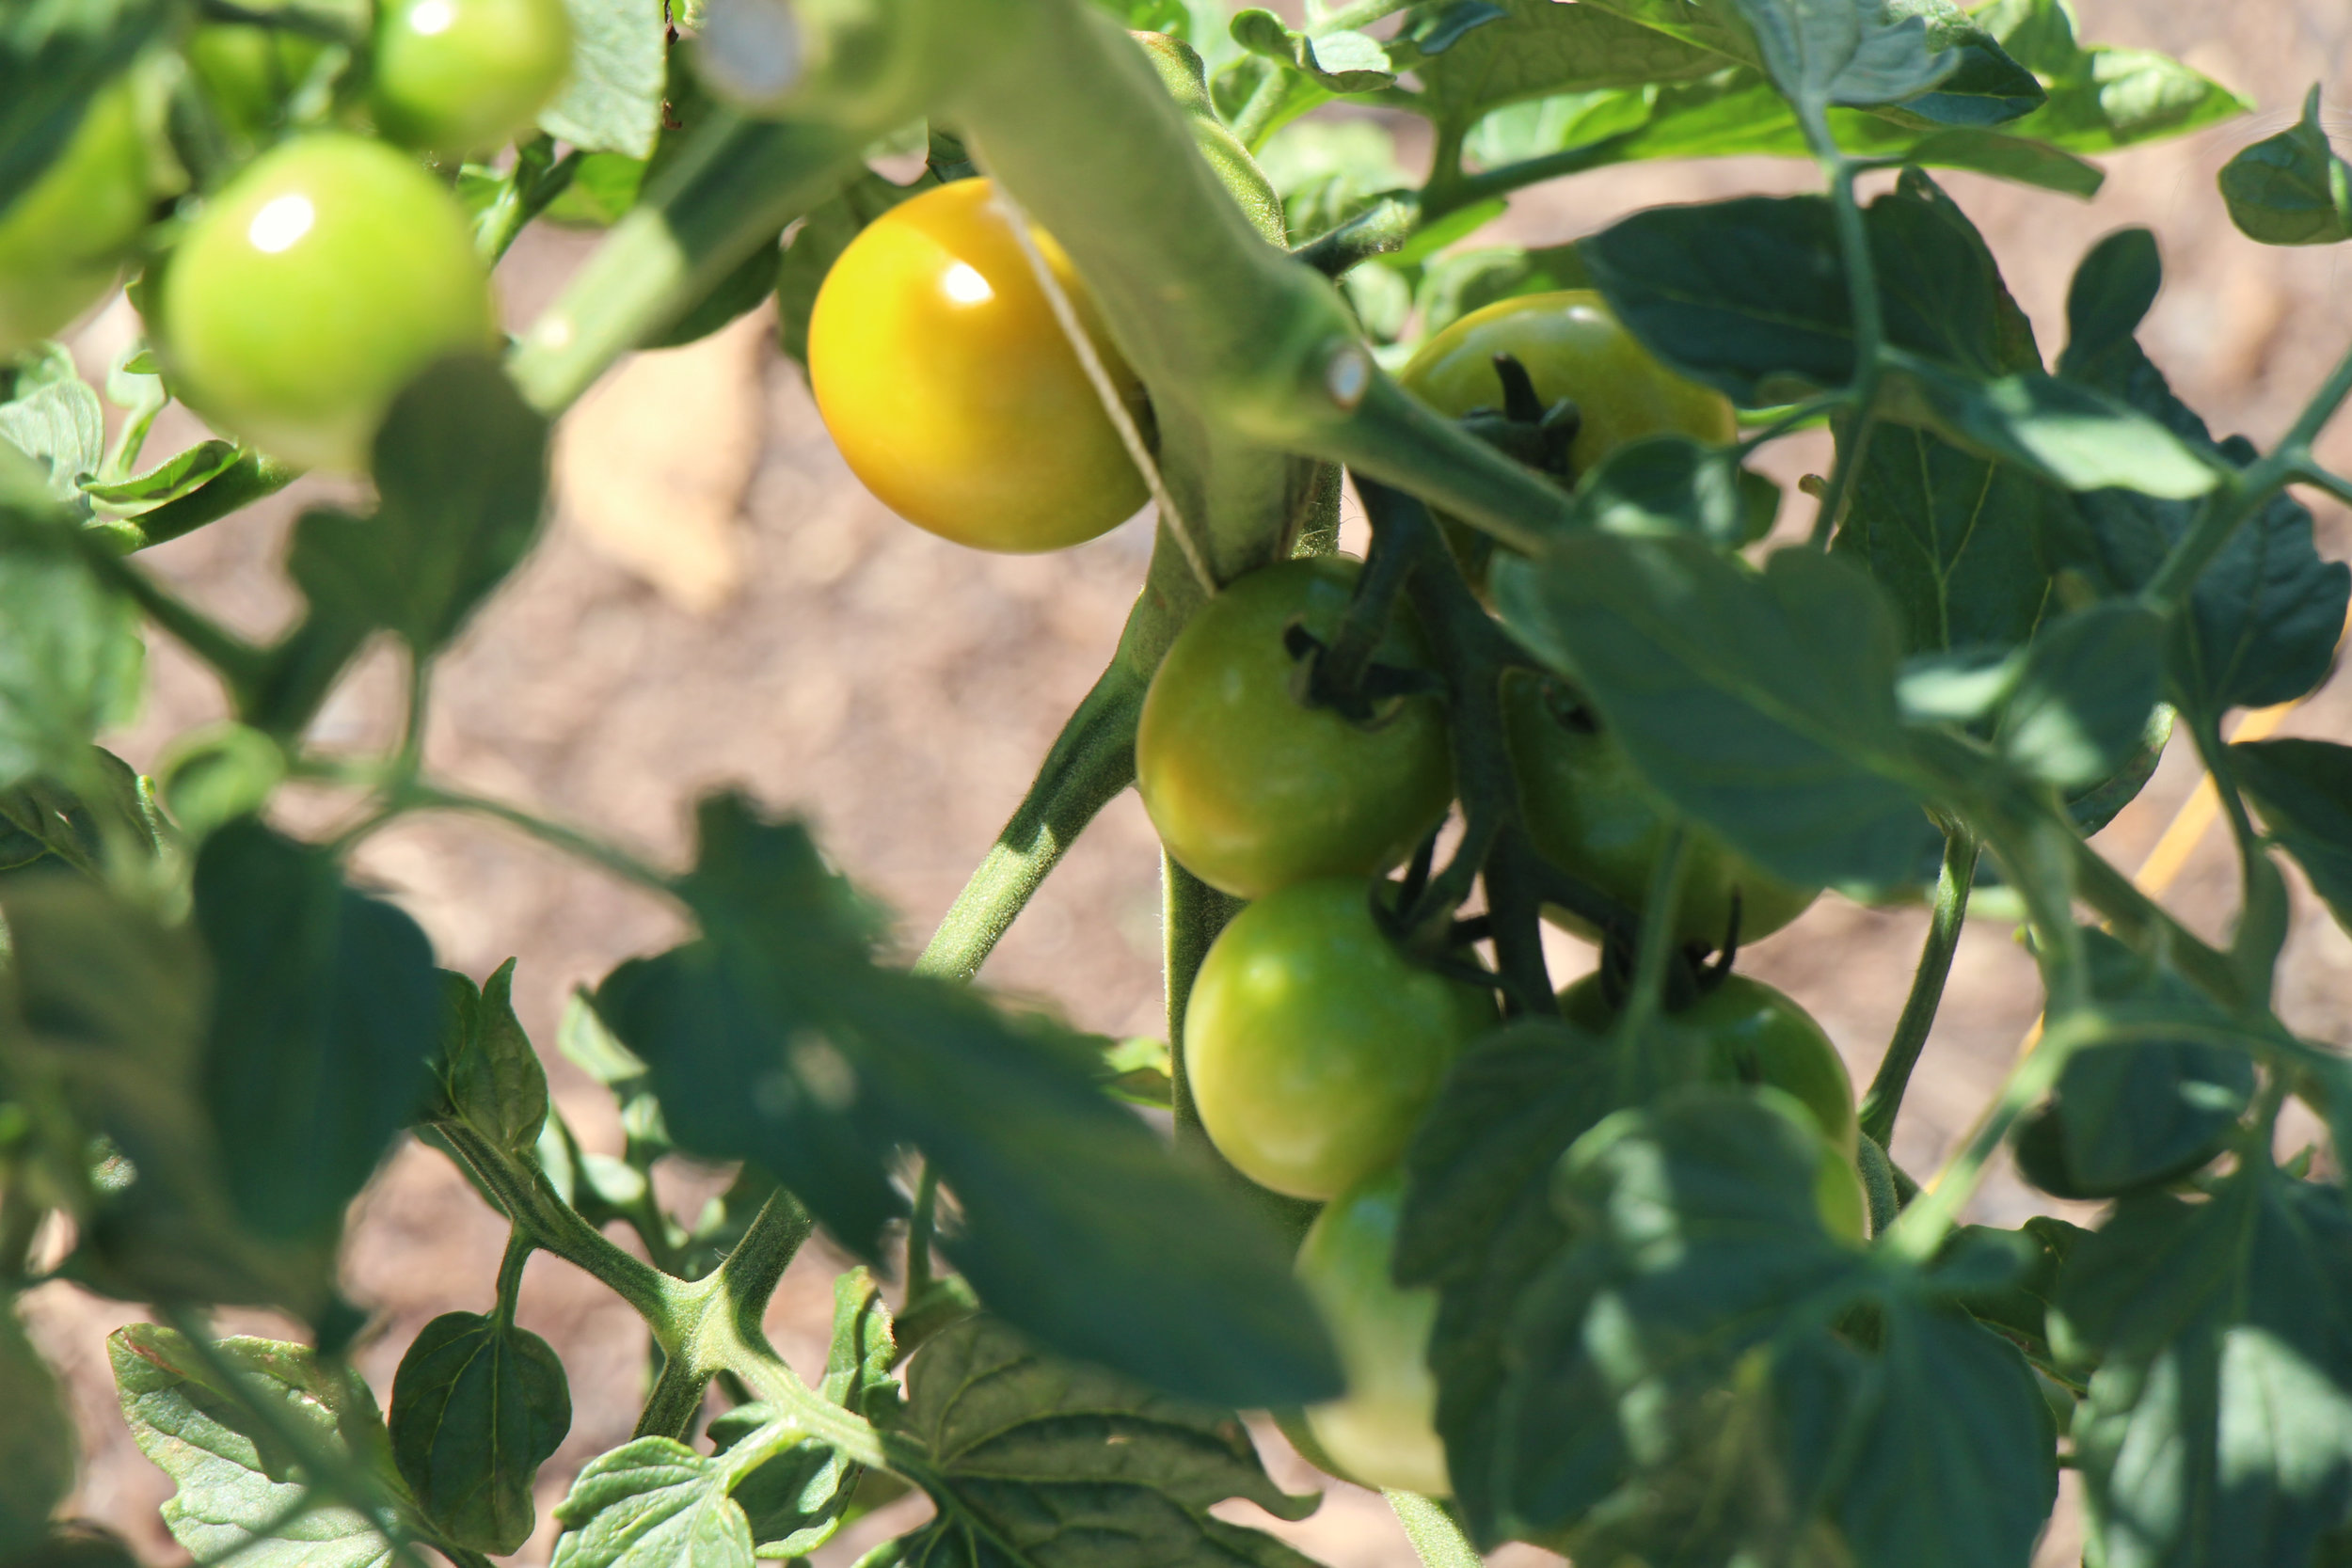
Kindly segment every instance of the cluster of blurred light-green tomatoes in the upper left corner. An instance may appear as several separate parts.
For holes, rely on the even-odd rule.
[[[200,24],[111,82],[0,209],[0,360],[143,263],[134,299],[191,409],[282,463],[365,470],[402,386],[499,346],[449,176],[527,129],[569,71],[562,0],[381,0],[353,42],[292,12]],[[198,92],[176,92],[188,78]],[[167,99],[207,115],[226,172],[155,223],[186,186]]]

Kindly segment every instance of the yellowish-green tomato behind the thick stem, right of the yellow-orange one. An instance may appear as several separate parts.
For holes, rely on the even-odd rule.
[[[1576,473],[1644,435],[1722,444],[1738,430],[1722,393],[1658,364],[1592,289],[1522,294],[1472,310],[1423,343],[1397,378],[1439,414],[1501,409],[1498,353],[1526,367],[1545,407],[1576,402]]]

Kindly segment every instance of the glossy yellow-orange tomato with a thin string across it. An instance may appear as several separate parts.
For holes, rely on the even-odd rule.
[[[1061,550],[1131,517],[1143,475],[985,179],[910,197],[840,254],[809,315],[809,386],[887,508],[978,550]],[[1131,414],[1143,386],[1051,235],[1030,237]]]

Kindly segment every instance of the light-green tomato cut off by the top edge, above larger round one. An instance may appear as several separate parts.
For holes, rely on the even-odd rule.
[[[463,158],[529,129],[567,75],[564,0],[383,0],[369,103],[393,141]]]

